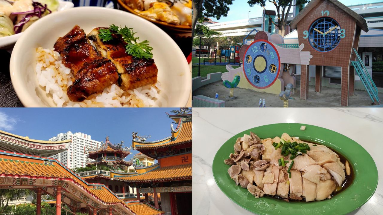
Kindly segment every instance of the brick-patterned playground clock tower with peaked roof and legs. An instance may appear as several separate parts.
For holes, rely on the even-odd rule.
[[[354,95],[355,71],[350,64],[355,60],[353,48],[358,49],[361,30],[367,32],[362,16],[337,0],[311,0],[290,22],[298,31],[303,51],[313,55],[310,65],[316,66],[315,91],[321,91],[321,66],[341,67],[340,104],[349,105]],[[301,99],[308,98],[309,65],[301,65]]]

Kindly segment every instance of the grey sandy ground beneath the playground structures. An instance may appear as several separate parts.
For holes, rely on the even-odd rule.
[[[300,89],[300,85],[296,85]],[[222,81],[217,81],[209,85],[202,86],[193,92],[193,96],[204,95],[214,98],[218,93],[221,100],[226,101],[226,107],[258,107],[259,99],[265,99],[266,107],[283,107],[283,101],[276,94],[257,92],[254,90],[234,88],[234,96],[236,99],[229,99],[229,89],[223,86]],[[289,99],[289,107],[306,108],[306,107],[343,107],[340,106],[340,89],[322,87],[320,93],[314,92],[314,86],[309,86],[309,98],[303,100],[299,98],[300,90]],[[383,101],[383,93],[378,94],[380,101]],[[349,107],[365,107],[371,106],[372,101],[367,91],[355,90],[354,96],[349,97]]]

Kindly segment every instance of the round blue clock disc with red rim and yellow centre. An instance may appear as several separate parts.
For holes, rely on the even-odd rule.
[[[279,77],[280,66],[278,51],[267,40],[255,40],[244,54],[244,75],[255,88],[264,89],[271,86]]]

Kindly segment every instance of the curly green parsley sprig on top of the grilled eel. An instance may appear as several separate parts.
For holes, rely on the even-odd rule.
[[[137,42],[139,37],[134,37],[135,32],[133,28],[121,28],[112,24],[109,28],[99,29],[98,37],[101,41],[106,42],[113,39],[112,34],[121,35],[122,39],[127,43],[125,46],[125,52],[133,55],[137,58],[146,58],[151,59],[153,57],[152,50],[153,48],[149,46],[149,41],[144,40],[142,42]]]

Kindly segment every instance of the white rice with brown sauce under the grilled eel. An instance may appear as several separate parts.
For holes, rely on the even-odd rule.
[[[154,107],[159,96],[160,83],[142,86],[124,91],[113,84],[102,93],[92,94],[82,102],[70,101],[67,88],[72,85],[74,77],[70,69],[62,64],[59,52],[52,49],[37,48],[36,74],[41,87],[46,94],[52,96],[57,107]]]

